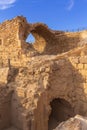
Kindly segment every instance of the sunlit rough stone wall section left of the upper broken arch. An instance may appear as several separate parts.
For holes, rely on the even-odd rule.
[[[0,66],[8,66],[8,59],[17,62],[21,55],[19,30],[23,17],[17,17],[0,24]],[[26,21],[26,20],[25,20]]]

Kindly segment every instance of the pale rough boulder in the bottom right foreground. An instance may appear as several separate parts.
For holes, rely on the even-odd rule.
[[[87,130],[87,117],[76,115],[75,117],[62,122],[54,130]]]

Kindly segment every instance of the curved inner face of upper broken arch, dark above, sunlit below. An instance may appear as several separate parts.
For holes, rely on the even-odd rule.
[[[36,41],[34,48],[39,52],[43,53],[49,45],[52,33],[46,25],[35,24],[34,29],[31,31]]]

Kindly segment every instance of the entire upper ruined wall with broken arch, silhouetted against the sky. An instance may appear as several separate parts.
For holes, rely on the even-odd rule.
[[[35,37],[34,44],[26,42],[30,33]],[[87,31],[53,31],[43,23],[31,24],[18,16],[0,24],[0,66],[8,66],[8,59],[12,65],[19,66],[33,56],[56,55],[84,46],[87,43],[86,34]]]

